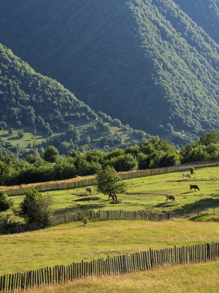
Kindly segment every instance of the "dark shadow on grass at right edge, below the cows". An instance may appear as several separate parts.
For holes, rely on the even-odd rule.
[[[204,198],[199,201],[196,201],[191,204],[184,205],[183,207],[179,209],[175,209],[174,213],[176,215],[183,215],[184,212],[186,214],[197,212],[198,209],[204,210],[204,209],[213,209],[219,207],[219,199],[214,198]]]

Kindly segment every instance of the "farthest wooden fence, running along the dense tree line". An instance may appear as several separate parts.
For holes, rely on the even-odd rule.
[[[154,174],[161,174],[161,173],[168,173],[168,172],[175,172],[189,169],[190,167],[209,167],[209,166],[219,166],[219,160],[216,161],[201,161],[201,162],[194,162],[183,164],[179,166],[172,166],[172,167],[162,167],[156,169],[146,169],[146,170],[137,170],[137,171],[130,171],[126,173],[118,173],[122,180],[130,179],[130,178],[137,178],[142,176],[154,175]],[[79,181],[74,182],[63,182],[63,183],[53,183],[53,184],[41,184],[37,185],[35,188],[38,191],[47,191],[47,190],[55,190],[55,189],[69,189],[75,187],[83,187],[95,184],[95,178],[89,179],[82,179]],[[16,189],[9,189],[6,191],[8,195],[21,195],[25,194],[28,188],[16,188]]]

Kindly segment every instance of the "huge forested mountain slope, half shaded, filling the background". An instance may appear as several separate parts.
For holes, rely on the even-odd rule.
[[[123,123],[199,134],[219,127],[219,45],[182,3],[0,0],[0,42]]]

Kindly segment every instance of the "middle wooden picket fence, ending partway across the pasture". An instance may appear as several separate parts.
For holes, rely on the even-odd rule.
[[[82,221],[88,219],[111,219],[111,220],[146,220],[146,221],[165,221],[173,218],[172,213],[151,213],[145,211],[123,211],[123,210],[82,210],[73,211],[67,214],[58,214],[53,216],[50,226],[57,226],[70,222]],[[10,230],[3,231],[1,234],[15,234],[46,228],[39,222],[30,224],[20,224]]]

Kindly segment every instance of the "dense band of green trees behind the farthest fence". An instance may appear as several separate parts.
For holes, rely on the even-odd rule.
[[[60,156],[54,146],[48,146],[42,157],[32,154],[24,160],[15,155],[0,154],[0,185],[20,185],[34,182],[62,180],[95,174],[106,166],[116,171],[168,167],[181,163],[219,160],[219,130],[205,132],[200,141],[191,142],[176,150],[168,140],[158,136],[140,145],[117,148],[111,152],[78,150]]]

